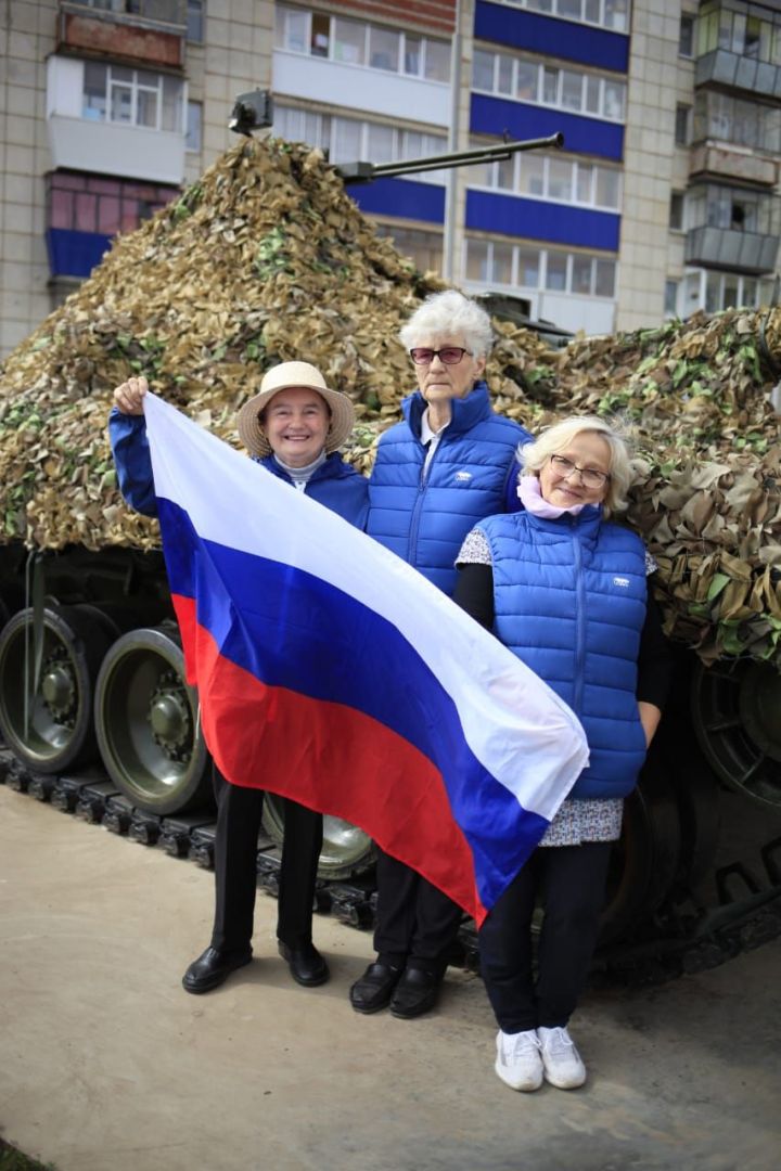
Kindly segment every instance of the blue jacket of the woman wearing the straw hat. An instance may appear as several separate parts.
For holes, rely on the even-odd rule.
[[[115,406],[109,416],[109,439],[117,470],[119,491],[131,508],[145,516],[157,516],[157,499],[152,479],[152,461],[143,415],[123,415]],[[280,480],[293,484],[273,456],[252,457]],[[307,495],[343,520],[364,528],[369,507],[369,484],[365,477],[333,452],[307,482]]]

